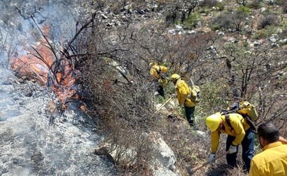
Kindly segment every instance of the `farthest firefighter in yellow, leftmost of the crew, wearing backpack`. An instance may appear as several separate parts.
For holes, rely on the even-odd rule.
[[[164,87],[167,85],[167,67],[157,65],[156,62],[150,63],[150,76],[157,83],[157,92],[164,97]]]

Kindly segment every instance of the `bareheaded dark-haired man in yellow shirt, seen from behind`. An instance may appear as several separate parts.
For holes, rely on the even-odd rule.
[[[279,137],[279,130],[272,122],[259,125],[257,132],[263,152],[251,160],[249,176],[287,175],[286,139]]]

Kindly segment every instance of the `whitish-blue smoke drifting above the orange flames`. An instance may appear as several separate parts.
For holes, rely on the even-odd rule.
[[[0,1],[0,61],[23,56],[43,38],[43,27],[49,26],[49,42],[61,49],[76,33],[77,7],[74,1]],[[76,13],[73,13],[76,12]],[[33,17],[33,18],[32,18]],[[58,47],[58,48],[57,48]]]

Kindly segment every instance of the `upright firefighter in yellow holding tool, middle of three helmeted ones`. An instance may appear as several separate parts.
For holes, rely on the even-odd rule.
[[[179,74],[171,75],[171,82],[176,86],[176,95],[171,95],[173,97],[177,97],[178,104],[185,108],[185,117],[189,122],[190,126],[194,126],[194,110],[195,110],[195,102],[192,102],[191,95],[195,95],[196,93],[191,93],[189,86],[185,81],[180,79]]]

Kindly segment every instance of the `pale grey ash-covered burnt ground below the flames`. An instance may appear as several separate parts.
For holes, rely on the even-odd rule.
[[[94,154],[100,136],[82,113],[66,111],[49,124],[52,91],[0,68],[0,97],[0,175],[116,174]]]

